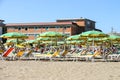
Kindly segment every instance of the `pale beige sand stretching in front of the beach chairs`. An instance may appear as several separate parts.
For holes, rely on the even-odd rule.
[[[120,80],[120,62],[0,61],[0,80]]]

